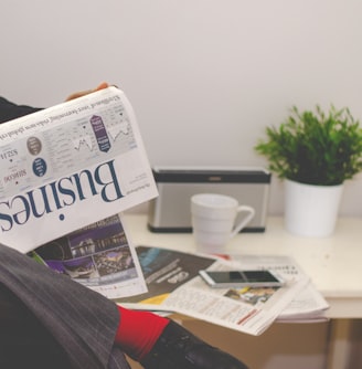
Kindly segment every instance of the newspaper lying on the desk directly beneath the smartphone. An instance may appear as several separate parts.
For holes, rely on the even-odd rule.
[[[260,335],[284,312],[289,312],[290,318],[290,304],[310,287],[309,278],[291,259],[243,256],[239,262],[237,256],[225,261],[148,246],[137,246],[136,251],[149,292],[117,299],[117,303],[139,309],[185,314],[251,335]],[[268,288],[211,288],[198,275],[200,268],[227,271],[235,267],[275,268],[281,271],[287,284]],[[324,305],[316,307],[317,310],[324,308]],[[302,307],[297,310],[300,313]]]

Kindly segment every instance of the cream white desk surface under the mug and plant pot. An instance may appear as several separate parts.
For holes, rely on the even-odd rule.
[[[135,245],[194,252],[190,233],[152,233],[147,215],[126,213],[125,225]],[[292,256],[330,304],[331,318],[362,318],[362,219],[339,219],[333,235],[309,239],[284,229],[281,218],[269,218],[264,233],[241,233],[226,252]]]

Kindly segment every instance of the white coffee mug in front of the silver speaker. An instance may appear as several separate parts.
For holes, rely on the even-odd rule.
[[[202,253],[223,253],[226,243],[245,228],[254,215],[255,210],[252,207],[241,205],[236,199],[225,194],[192,196],[191,220],[196,250]]]

